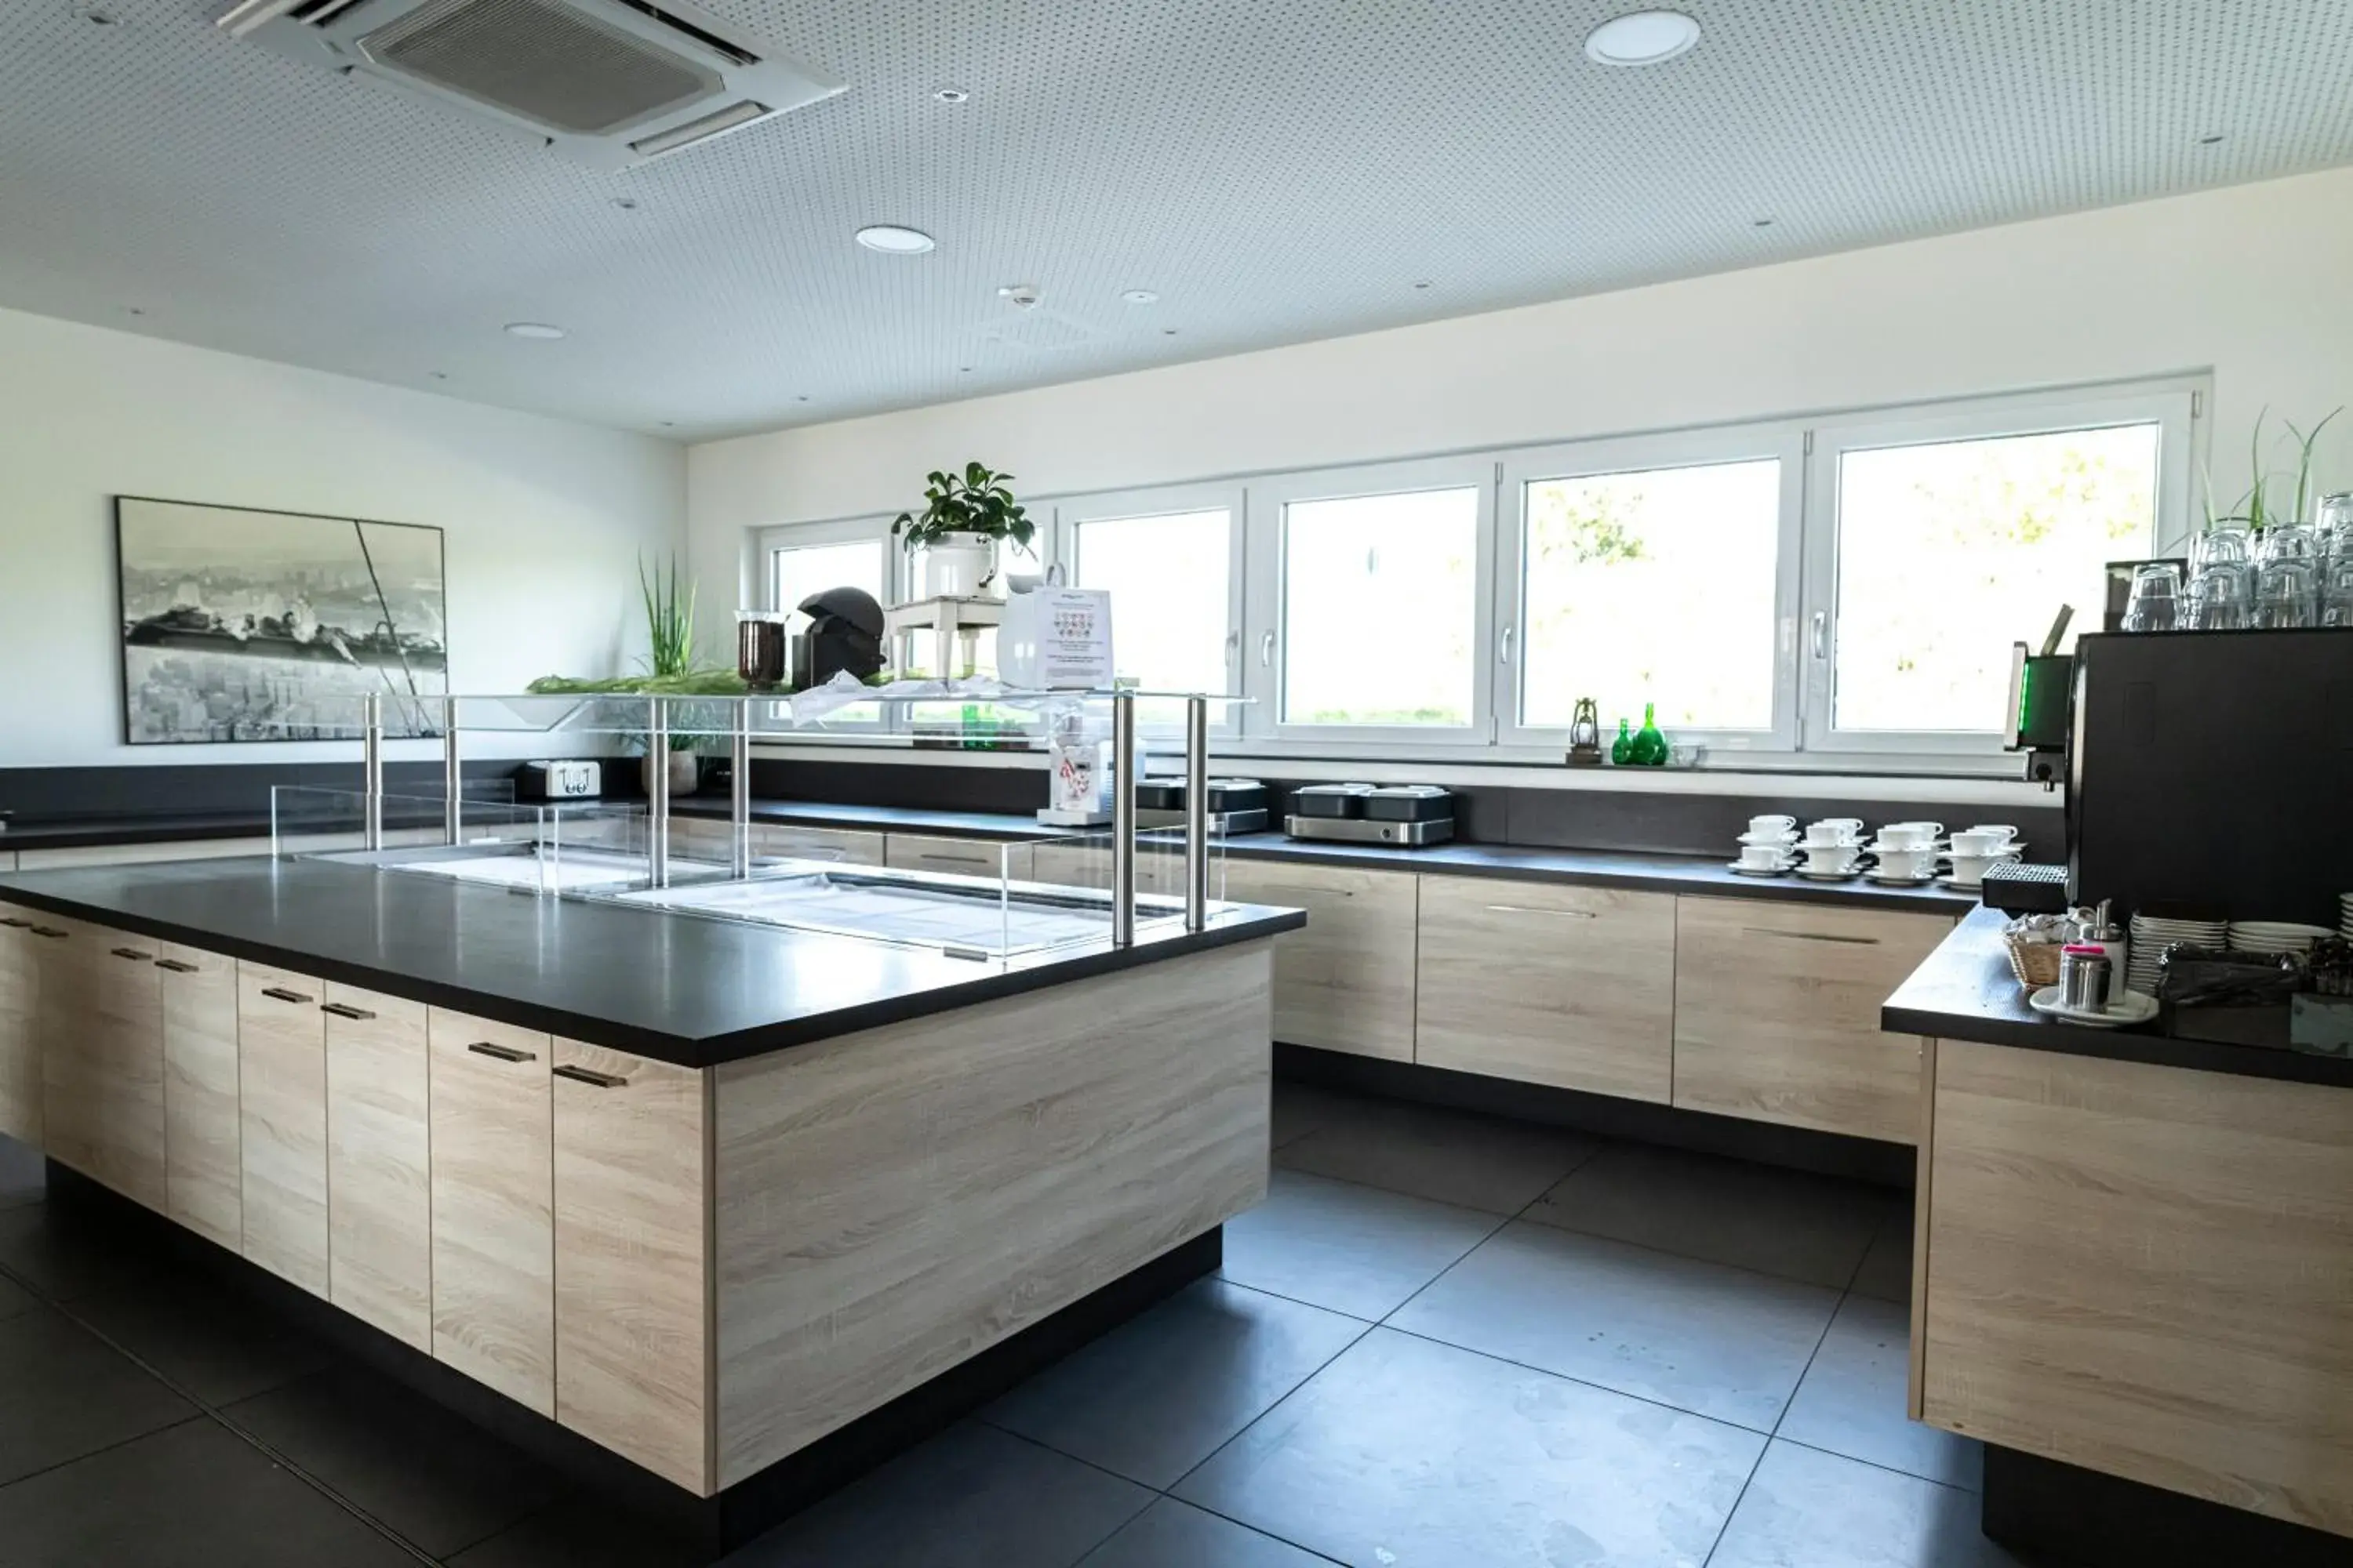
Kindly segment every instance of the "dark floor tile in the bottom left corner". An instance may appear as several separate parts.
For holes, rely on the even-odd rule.
[[[26,1568],[416,1568],[209,1420],[0,1488],[0,1542]]]

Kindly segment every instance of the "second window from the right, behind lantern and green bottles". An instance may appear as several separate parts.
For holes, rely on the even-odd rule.
[[[1795,515],[1800,433],[1704,433],[1614,442],[1506,463],[1520,501],[1515,602],[1515,738],[1558,745],[1577,698],[1591,696],[1605,738],[1617,722],[1689,738],[1767,743],[1793,703],[1777,635],[1784,520]],[[1602,465],[1614,456],[1772,451],[1715,463]],[[1784,451],[1786,449],[1786,451]],[[1593,463],[1579,473],[1577,458]]]

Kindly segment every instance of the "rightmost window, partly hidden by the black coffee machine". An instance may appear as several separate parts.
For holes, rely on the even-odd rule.
[[[2009,644],[2061,604],[2099,630],[2106,564],[2186,531],[2186,393],[1824,428],[1809,745],[1986,750]]]

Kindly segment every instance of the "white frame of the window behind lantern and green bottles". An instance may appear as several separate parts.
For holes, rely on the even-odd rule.
[[[1548,480],[1584,480],[1595,475],[1642,473],[1659,468],[1708,468],[1718,463],[1781,463],[1779,515],[1774,527],[1774,670],[1772,724],[1767,729],[1675,729],[1678,745],[1706,745],[1711,752],[1791,752],[1798,748],[1798,592],[1800,534],[1805,522],[1805,423],[1777,421],[1758,425],[1711,425],[1661,435],[1631,435],[1562,447],[1534,447],[1504,456],[1499,534],[1494,571],[1494,658],[1497,741],[1511,748],[1565,752],[1567,726],[1522,724],[1522,679],[1527,670],[1527,487]],[[1673,618],[1678,607],[1659,607]],[[1614,715],[1602,715],[1602,745],[1609,743]]]

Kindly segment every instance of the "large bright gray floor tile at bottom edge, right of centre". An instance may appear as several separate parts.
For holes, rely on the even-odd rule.
[[[1344,1563],[1687,1568],[1762,1446],[1377,1328],[1174,1495]]]

